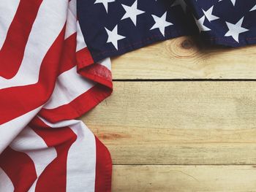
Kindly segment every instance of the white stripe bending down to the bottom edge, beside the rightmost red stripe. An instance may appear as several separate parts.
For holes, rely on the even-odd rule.
[[[49,123],[52,128],[69,126],[78,136],[69,148],[67,155],[67,192],[92,192],[95,188],[96,142],[94,134],[80,120],[63,120],[59,123]]]

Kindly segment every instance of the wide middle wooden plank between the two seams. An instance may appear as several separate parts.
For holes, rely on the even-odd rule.
[[[114,82],[82,120],[113,164],[256,164],[256,82]]]

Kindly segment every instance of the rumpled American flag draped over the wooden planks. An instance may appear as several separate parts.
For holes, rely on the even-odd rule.
[[[110,96],[110,57],[184,35],[256,43],[256,0],[0,0],[0,192],[111,191],[80,115]]]

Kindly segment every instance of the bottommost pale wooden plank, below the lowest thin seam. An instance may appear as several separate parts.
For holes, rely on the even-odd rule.
[[[255,166],[113,167],[113,192],[235,192],[255,189]]]

